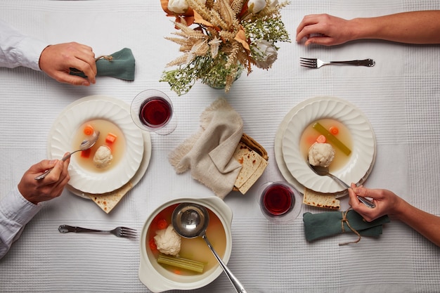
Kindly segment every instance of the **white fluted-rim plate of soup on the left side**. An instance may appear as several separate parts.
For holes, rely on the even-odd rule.
[[[108,193],[126,184],[138,171],[144,153],[141,129],[131,120],[129,105],[122,107],[116,98],[90,96],[79,99],[63,110],[49,133],[48,157],[61,158],[66,151],[77,150],[86,138],[84,127],[91,125],[101,132],[89,154],[77,152],[69,165],[69,185],[84,193]],[[106,140],[109,134],[115,141]],[[110,137],[110,136],[109,136]],[[93,164],[100,146],[112,152],[112,161],[105,168]]]

